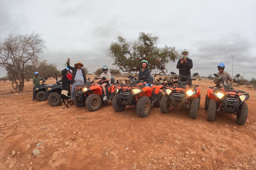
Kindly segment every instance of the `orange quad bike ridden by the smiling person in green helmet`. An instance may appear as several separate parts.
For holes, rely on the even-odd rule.
[[[151,84],[146,86],[141,80],[146,77],[139,77],[138,80],[131,80],[131,83],[116,85],[114,91],[116,95],[112,100],[112,107],[116,112],[121,112],[126,106],[136,107],[139,117],[147,117],[150,112],[151,104],[160,107],[160,101],[163,93],[160,92],[162,84]],[[154,80],[150,76],[151,83]]]

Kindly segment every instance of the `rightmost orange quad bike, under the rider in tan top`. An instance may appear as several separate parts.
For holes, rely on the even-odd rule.
[[[214,121],[216,113],[233,113],[236,115],[236,123],[238,125],[244,125],[248,116],[248,106],[245,103],[249,99],[249,93],[244,91],[235,90],[232,88],[232,84],[227,85],[225,81],[214,73],[218,80],[221,82],[221,88],[208,87],[207,95],[205,97],[204,109],[207,112],[207,121]],[[237,74],[236,77],[239,77]],[[233,80],[234,83],[240,82],[240,80]]]

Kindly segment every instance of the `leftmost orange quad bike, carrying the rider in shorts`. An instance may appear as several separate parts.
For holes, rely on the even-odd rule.
[[[86,84],[83,86],[77,86],[75,88],[75,98],[74,104],[77,107],[86,106],[90,111],[97,111],[101,107],[101,103],[105,103],[112,100],[115,92],[113,84],[110,84],[106,88],[107,99],[103,101],[102,88],[99,83],[94,83],[95,80],[100,78],[95,77],[91,84]],[[115,77],[111,76],[111,82],[115,82]]]

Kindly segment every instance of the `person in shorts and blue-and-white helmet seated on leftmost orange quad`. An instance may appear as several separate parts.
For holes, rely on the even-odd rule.
[[[110,79],[111,79],[111,73],[108,72],[108,66],[107,65],[103,65],[102,67],[102,71],[103,73],[100,75],[100,84],[101,84],[101,88],[102,88],[102,91],[103,91],[103,100],[106,100],[107,99],[107,95],[106,95],[106,89],[105,87],[109,86],[110,85]]]

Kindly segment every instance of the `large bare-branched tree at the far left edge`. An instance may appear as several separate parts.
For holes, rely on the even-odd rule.
[[[7,71],[12,87],[23,91],[27,70],[38,64],[46,49],[45,40],[34,32],[26,35],[10,34],[0,42],[0,66]]]

